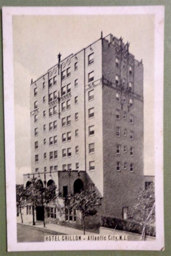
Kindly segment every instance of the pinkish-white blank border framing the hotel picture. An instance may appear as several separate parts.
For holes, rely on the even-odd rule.
[[[155,200],[156,239],[124,242],[17,243],[13,78],[13,15],[155,14]],[[143,35],[142,35],[143,36]],[[164,6],[3,7],[5,167],[8,251],[163,250],[163,42]]]

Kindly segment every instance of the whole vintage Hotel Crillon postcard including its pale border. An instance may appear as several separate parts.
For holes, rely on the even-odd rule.
[[[163,6],[4,7],[8,251],[164,250]]]

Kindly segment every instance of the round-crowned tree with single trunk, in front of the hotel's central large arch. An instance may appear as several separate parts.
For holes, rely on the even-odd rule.
[[[74,194],[68,200],[68,207],[70,209],[79,210],[83,217],[83,230],[85,235],[85,217],[93,216],[97,213],[95,204],[97,203],[97,195],[95,191],[83,190],[80,193]]]

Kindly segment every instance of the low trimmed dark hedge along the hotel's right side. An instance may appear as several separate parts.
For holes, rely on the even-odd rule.
[[[102,216],[101,226],[109,227],[110,229],[118,229],[124,231],[130,231],[133,233],[142,233],[143,224],[132,220],[123,220],[112,216]],[[146,225],[145,234],[155,237],[155,227],[152,225]]]

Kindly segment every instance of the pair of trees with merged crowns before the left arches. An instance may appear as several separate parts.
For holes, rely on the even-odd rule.
[[[43,207],[43,224],[45,227],[44,209],[50,201],[56,199],[56,186],[52,183],[45,188],[37,178],[32,178],[30,182],[31,184],[26,188],[26,195],[27,202],[32,204],[33,225],[35,225],[35,206],[41,205]]]

